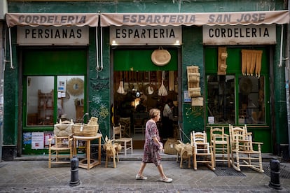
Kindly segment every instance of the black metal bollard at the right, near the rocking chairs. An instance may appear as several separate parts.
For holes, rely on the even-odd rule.
[[[280,162],[278,159],[271,159],[270,161],[269,186],[276,190],[282,190],[282,187],[280,185]]]

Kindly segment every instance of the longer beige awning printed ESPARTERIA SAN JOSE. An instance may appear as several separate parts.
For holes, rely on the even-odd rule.
[[[289,23],[289,10],[229,13],[101,13],[101,26],[202,26]]]

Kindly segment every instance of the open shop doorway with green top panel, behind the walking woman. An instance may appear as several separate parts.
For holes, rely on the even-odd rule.
[[[170,50],[172,59],[168,66],[156,66],[151,62],[153,50],[115,50],[114,52],[113,124],[125,125],[123,135],[133,138],[134,149],[143,148],[149,110],[158,108],[163,114],[167,101],[172,101],[174,117],[172,129],[165,128],[161,115],[161,120],[157,123],[158,131],[163,141],[167,138],[177,138],[177,131],[175,131],[178,127],[179,115],[177,49]],[[127,57],[129,55],[130,57]]]

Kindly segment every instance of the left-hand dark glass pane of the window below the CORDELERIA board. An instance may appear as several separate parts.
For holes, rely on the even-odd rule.
[[[207,76],[209,123],[235,123],[235,76]]]

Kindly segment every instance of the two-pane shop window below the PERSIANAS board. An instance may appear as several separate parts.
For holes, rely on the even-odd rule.
[[[60,119],[82,121],[84,76],[57,76],[56,81],[55,88],[54,76],[27,77],[27,126],[51,126]]]

